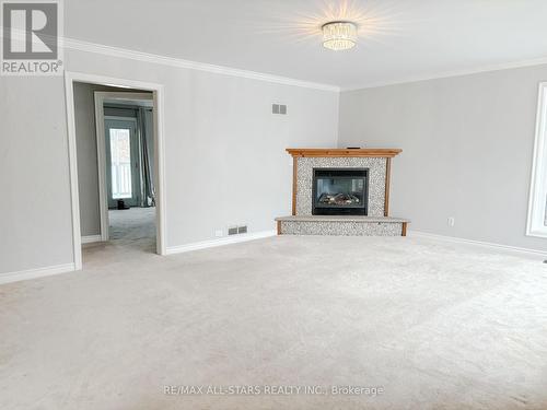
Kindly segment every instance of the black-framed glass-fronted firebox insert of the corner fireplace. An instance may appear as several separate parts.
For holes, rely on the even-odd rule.
[[[313,168],[312,214],[368,215],[369,168]]]

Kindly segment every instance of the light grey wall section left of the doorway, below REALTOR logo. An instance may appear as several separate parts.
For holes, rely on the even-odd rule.
[[[0,272],[72,262],[62,78],[0,77]]]

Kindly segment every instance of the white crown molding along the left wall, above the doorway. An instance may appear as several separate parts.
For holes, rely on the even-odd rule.
[[[66,49],[100,54],[103,56],[125,58],[125,59],[129,59],[129,60],[150,62],[150,63],[154,63],[154,65],[163,65],[163,66],[170,66],[170,67],[176,67],[176,68],[183,68],[183,69],[189,69],[189,70],[212,72],[216,74],[240,77],[240,78],[244,78],[244,79],[266,81],[266,82],[282,84],[282,85],[292,85],[292,86],[300,86],[300,87],[314,89],[314,90],[321,90],[321,91],[330,91],[330,92],[337,92],[337,93],[340,92],[340,87],[336,86],[336,85],[319,84],[319,83],[314,83],[314,82],[309,82],[309,81],[290,79],[287,77],[279,77],[279,75],[266,74],[266,73],[261,73],[261,72],[241,70],[241,69],[235,69],[235,68],[231,68],[231,67],[214,66],[214,65],[209,65],[206,62],[183,60],[179,58],[160,56],[160,55],[142,52],[142,51],[136,51],[136,50],[130,50],[130,49],[120,48],[120,47],[106,46],[103,44],[89,43],[89,42],[83,42],[83,40],[74,39],[74,38],[65,37],[62,39],[62,46]]]

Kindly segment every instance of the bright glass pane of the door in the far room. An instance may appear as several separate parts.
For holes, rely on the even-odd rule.
[[[110,128],[112,197],[131,198],[131,145],[128,129]]]

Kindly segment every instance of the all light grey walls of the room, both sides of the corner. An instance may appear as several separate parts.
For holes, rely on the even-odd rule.
[[[392,213],[419,231],[545,249],[524,235],[538,66],[344,92],[67,50],[70,71],[165,86],[167,246],[290,213],[288,147],[396,147]],[[73,261],[61,78],[0,78],[0,272]],[[271,115],[271,103],[288,116]],[[339,138],[337,133],[339,131]],[[446,218],[455,216],[449,227]]]

